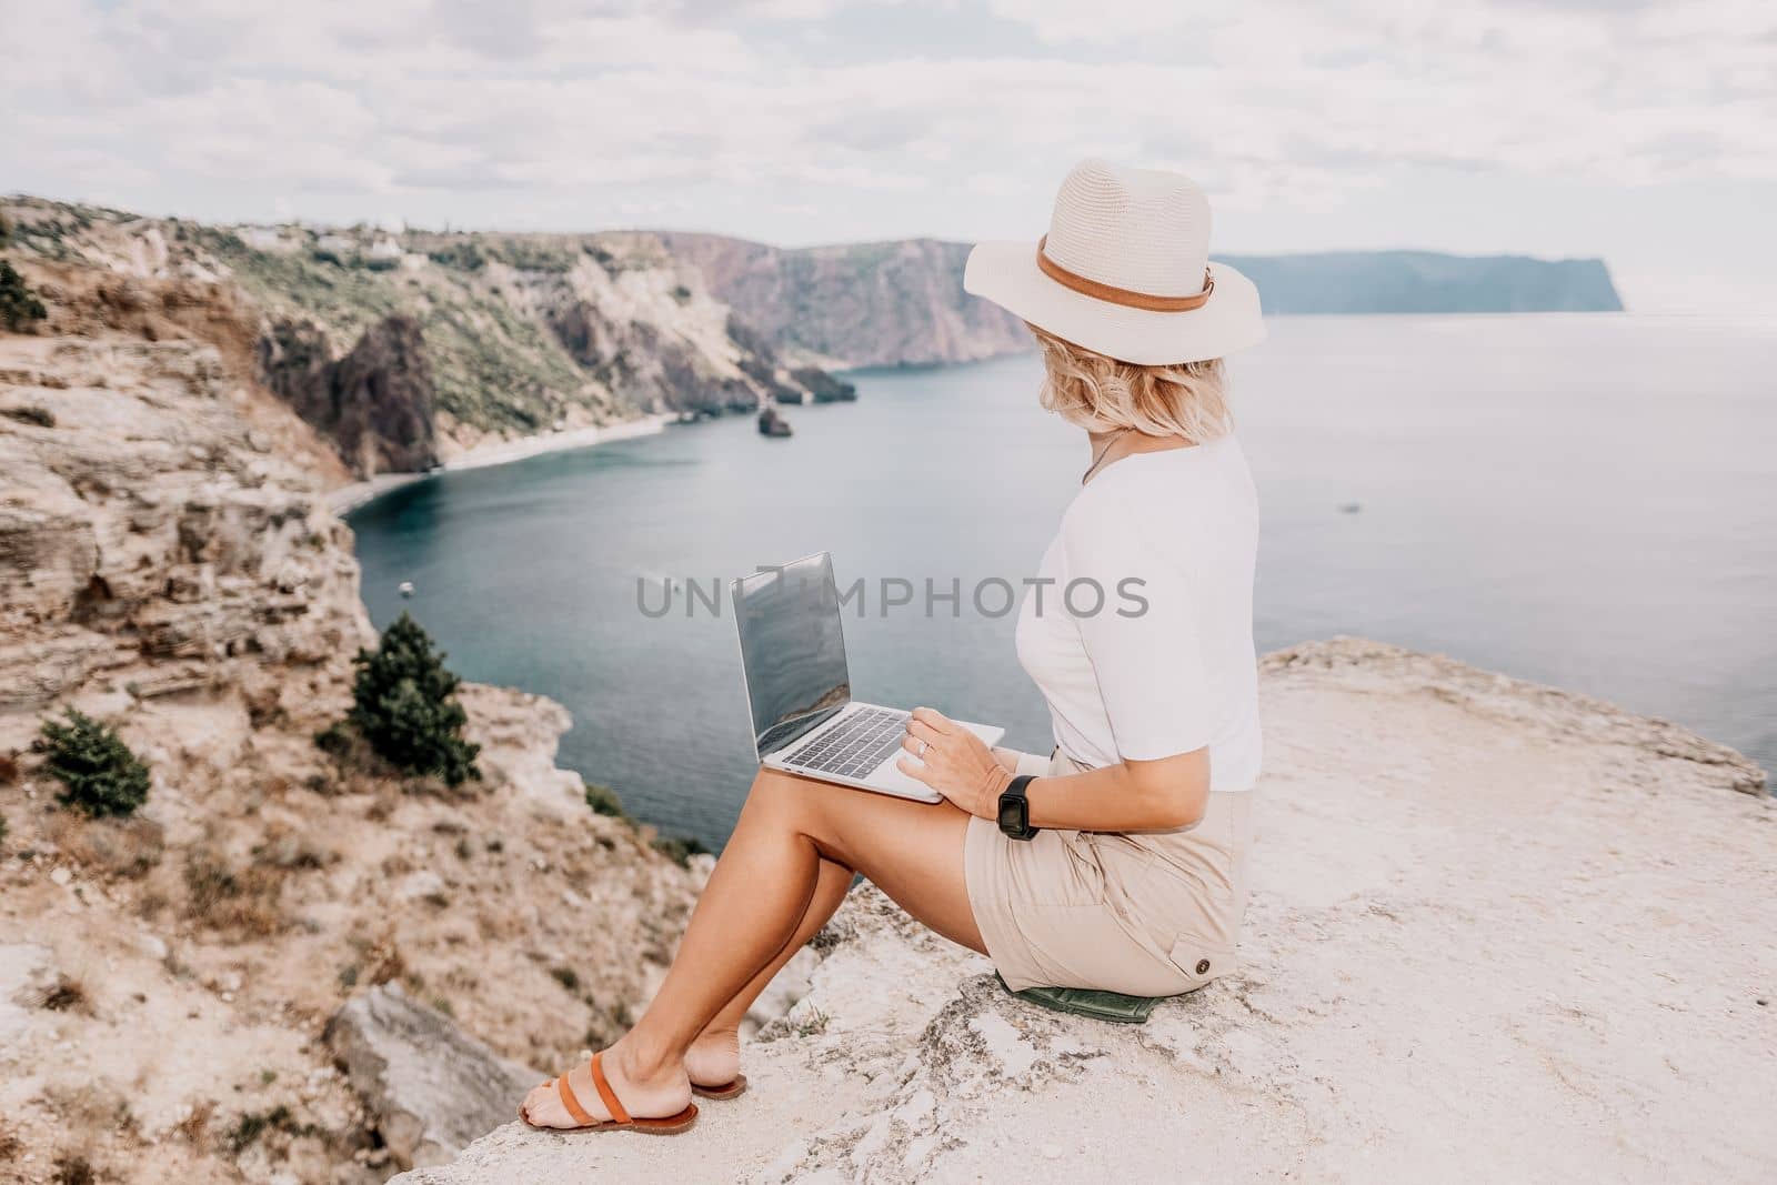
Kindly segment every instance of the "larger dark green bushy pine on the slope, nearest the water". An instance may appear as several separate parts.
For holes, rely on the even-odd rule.
[[[457,675],[432,650],[432,636],[407,613],[389,625],[377,648],[359,650],[352,663],[352,712],[347,721],[370,748],[407,773],[434,775],[446,785],[480,778],[480,744],[462,737],[469,714],[457,702]]]

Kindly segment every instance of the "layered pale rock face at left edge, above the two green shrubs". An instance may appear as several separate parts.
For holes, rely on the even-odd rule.
[[[320,451],[211,345],[0,338],[0,711],[338,677],[368,627]]]

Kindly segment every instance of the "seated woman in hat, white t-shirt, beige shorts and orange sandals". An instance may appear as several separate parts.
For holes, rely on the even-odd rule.
[[[1032,327],[1043,405],[1091,448],[1018,616],[1054,755],[917,709],[901,767],[938,805],[761,769],[654,1002],[531,1091],[528,1123],[681,1132],[693,1093],[745,1089],[741,1018],[858,872],[1013,990],[1173,995],[1228,970],[1260,764],[1258,505],[1221,359],[1263,325],[1208,227],[1189,179],[1088,160],[1041,242],[968,256],[965,288]]]

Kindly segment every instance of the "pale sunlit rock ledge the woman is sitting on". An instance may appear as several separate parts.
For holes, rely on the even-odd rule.
[[[1375,643],[1272,654],[1262,688],[1235,975],[1143,1027],[1063,1016],[864,888],[688,1135],[506,1125],[398,1180],[1770,1178],[1761,771]]]

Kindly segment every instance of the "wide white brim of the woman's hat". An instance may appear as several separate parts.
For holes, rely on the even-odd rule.
[[[1265,339],[1253,281],[1214,259],[1210,274],[1215,290],[1201,307],[1151,313],[1057,284],[1036,266],[1036,243],[992,242],[968,252],[963,291],[1095,354],[1137,366],[1166,366],[1224,357]]]

